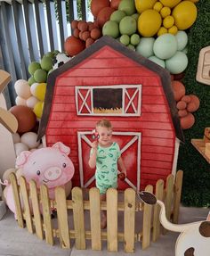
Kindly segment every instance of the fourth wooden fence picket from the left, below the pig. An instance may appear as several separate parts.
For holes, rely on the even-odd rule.
[[[48,194],[48,189],[45,185],[40,186],[41,192],[41,202],[44,218],[44,232],[46,243],[53,244],[53,234],[52,234],[52,221],[51,221],[51,208],[50,199]]]

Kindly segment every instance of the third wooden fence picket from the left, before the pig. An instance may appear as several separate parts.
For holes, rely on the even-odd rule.
[[[34,180],[31,180],[29,182],[29,188],[30,188],[30,199],[31,199],[33,213],[34,213],[36,235],[43,240],[42,220],[41,220],[41,214],[39,209],[36,182]]]

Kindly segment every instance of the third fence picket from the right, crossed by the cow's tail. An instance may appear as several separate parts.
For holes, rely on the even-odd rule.
[[[164,181],[163,179],[158,179],[156,183],[156,198],[158,200],[163,201],[164,197]],[[159,213],[160,213],[160,206],[156,204],[154,206],[154,216],[153,216],[153,233],[152,233],[152,241],[156,242],[160,235],[160,221],[159,221]]]

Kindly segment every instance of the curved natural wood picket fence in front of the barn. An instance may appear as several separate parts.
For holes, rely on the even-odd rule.
[[[80,187],[74,187],[71,191],[71,200],[67,200],[65,190],[59,186],[55,189],[55,200],[50,200],[46,186],[41,186],[38,191],[35,181],[30,181],[27,186],[23,177],[20,178],[18,185],[13,173],[10,179],[19,226],[26,225],[28,232],[36,232],[40,239],[45,238],[47,244],[54,244],[55,239],[59,238],[61,247],[68,249],[71,247],[71,241],[75,240],[76,248],[85,250],[85,240],[89,239],[92,250],[101,250],[102,241],[105,240],[109,252],[117,252],[118,242],[124,243],[125,252],[134,252],[135,243],[141,241],[142,249],[146,249],[151,238],[155,242],[161,233],[166,234],[166,230],[159,222],[159,206],[140,202],[132,188],[127,188],[123,192],[122,202],[118,200],[117,190],[109,188],[107,201],[100,202],[100,194],[95,187],[89,190],[89,200],[84,200],[84,193]],[[150,185],[145,188],[151,193],[153,189],[157,198],[166,204],[167,218],[177,223],[182,193],[182,170],[176,173],[176,177],[167,177],[166,187],[160,179],[155,188]],[[20,198],[24,210],[20,207]],[[52,209],[57,211],[57,219],[51,218]],[[107,211],[106,231],[101,230],[101,210]],[[90,230],[85,230],[86,211],[90,213]],[[118,211],[123,211],[124,232],[118,232]],[[140,217],[140,211],[141,219],[136,219]],[[73,223],[69,223],[69,215]],[[53,225],[55,221],[56,225]],[[139,223],[142,226],[141,231],[136,227]],[[70,228],[69,224],[74,228]]]

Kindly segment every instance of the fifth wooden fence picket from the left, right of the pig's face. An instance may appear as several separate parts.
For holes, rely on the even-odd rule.
[[[70,248],[66,193],[61,186],[58,186],[55,189],[55,201],[59,224],[60,244],[62,248]]]

